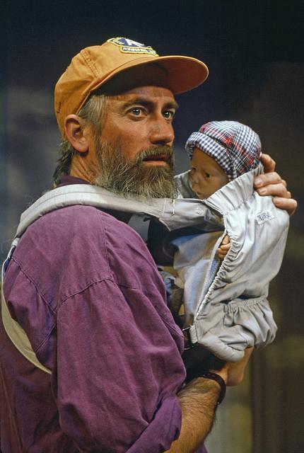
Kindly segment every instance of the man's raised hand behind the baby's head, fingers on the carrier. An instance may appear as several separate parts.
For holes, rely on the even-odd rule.
[[[291,193],[286,188],[286,181],[274,171],[276,168],[274,159],[271,159],[268,154],[262,154],[261,161],[265,173],[255,178],[254,185],[257,193],[259,195],[272,195],[274,205],[292,215],[296,211],[298,203],[291,198]]]

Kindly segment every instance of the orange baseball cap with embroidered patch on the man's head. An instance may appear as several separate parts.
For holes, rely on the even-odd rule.
[[[165,69],[173,94],[199,86],[208,76],[206,64],[199,59],[159,57],[152,47],[128,38],[110,38],[103,45],[86,47],[71,60],[55,86],[55,113],[62,136],[66,116],[78,113],[90,93],[125,69],[154,62]]]

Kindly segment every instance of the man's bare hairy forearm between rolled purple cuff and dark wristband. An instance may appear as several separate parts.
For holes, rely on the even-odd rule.
[[[167,453],[192,453],[199,448],[212,428],[220,391],[217,382],[203,377],[194,379],[180,391],[180,437]]]

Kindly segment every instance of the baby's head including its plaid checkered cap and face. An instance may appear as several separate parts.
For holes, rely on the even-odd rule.
[[[211,121],[190,135],[186,151],[191,159],[191,188],[205,199],[258,166],[261,142],[250,127],[240,122]]]

